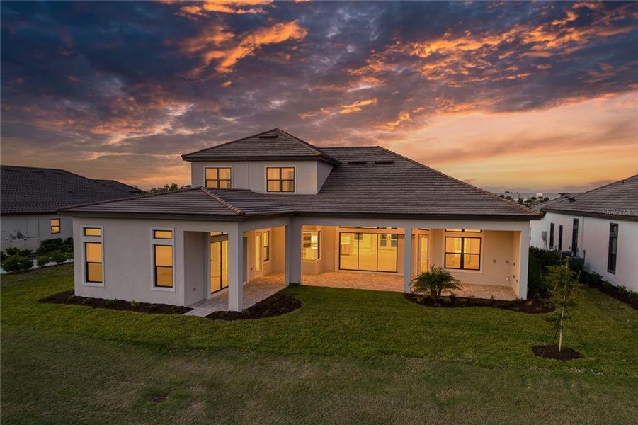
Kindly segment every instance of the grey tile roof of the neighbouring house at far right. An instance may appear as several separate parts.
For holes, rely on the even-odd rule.
[[[541,211],[638,221],[638,174],[561,198]]]

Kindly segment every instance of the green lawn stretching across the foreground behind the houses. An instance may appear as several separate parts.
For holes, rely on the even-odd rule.
[[[585,289],[566,345],[536,358],[547,315],[434,309],[397,293],[292,287],[303,307],[213,322],[39,304],[71,266],[4,276],[1,420],[630,423],[638,314]],[[164,404],[147,402],[159,393]]]

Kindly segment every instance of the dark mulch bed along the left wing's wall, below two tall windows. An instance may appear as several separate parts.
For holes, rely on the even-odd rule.
[[[123,300],[104,300],[103,298],[76,297],[72,290],[49,295],[38,302],[52,304],[86,305],[94,308],[109,308],[110,310],[126,310],[129,312],[152,314],[184,314],[193,310],[190,307],[181,307],[168,304],[150,304],[149,302],[130,302]]]

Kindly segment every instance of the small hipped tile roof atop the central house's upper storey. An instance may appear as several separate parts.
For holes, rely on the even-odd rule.
[[[186,161],[321,160],[338,164],[324,149],[275,128],[257,135],[183,154]]]

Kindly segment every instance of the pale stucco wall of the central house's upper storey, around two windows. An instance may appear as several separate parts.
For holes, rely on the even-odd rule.
[[[294,193],[298,194],[316,194],[321,188],[320,184],[324,183],[332,169],[330,164],[319,161],[191,162],[190,181],[192,186],[205,186],[205,169],[207,167],[230,167],[233,188],[265,193],[266,167],[269,166],[295,167]]]

